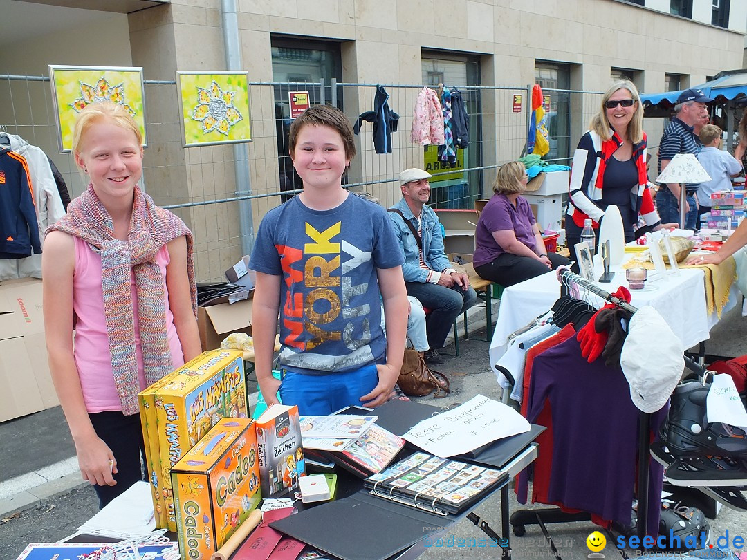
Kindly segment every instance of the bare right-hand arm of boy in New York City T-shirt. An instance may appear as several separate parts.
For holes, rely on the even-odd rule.
[[[363,405],[375,408],[384,404],[391,394],[402,369],[407,336],[407,290],[402,277],[402,267],[376,268],[379,287],[384,302],[386,325],[386,364],[377,365],[379,382],[371,393],[363,395]]]

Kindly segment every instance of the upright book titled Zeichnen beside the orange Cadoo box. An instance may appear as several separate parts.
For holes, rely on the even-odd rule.
[[[296,405],[272,405],[256,420],[257,462],[263,498],[279,498],[306,476]]]

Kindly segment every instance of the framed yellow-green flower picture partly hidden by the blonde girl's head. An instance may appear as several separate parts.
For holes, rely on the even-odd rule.
[[[72,129],[78,113],[86,105],[103,101],[122,105],[140,127],[143,146],[148,146],[142,68],[50,65],[49,81],[61,153],[72,151]]]

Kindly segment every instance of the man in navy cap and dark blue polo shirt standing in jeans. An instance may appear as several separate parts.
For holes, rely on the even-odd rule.
[[[692,127],[707,114],[706,103],[713,99],[706,97],[701,90],[684,90],[677,98],[675,118],[666,125],[659,143],[659,172],[669,165],[672,158],[678,154],[698,155],[701,143],[692,131]],[[680,191],[687,190],[685,206],[685,228],[695,229],[698,219],[698,202],[695,191],[698,184],[666,183],[660,186],[656,195],[657,211],[662,223],[680,221]]]

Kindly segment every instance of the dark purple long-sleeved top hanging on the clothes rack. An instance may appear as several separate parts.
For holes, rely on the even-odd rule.
[[[630,524],[637,480],[638,418],[630,386],[619,365],[591,364],[576,337],[534,358],[527,420],[533,422],[549,399],[553,458],[548,500]],[[669,403],[651,414],[657,433]],[[663,467],[650,461],[648,535],[659,532]]]

